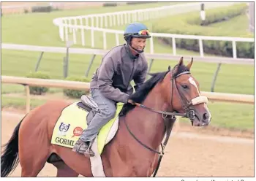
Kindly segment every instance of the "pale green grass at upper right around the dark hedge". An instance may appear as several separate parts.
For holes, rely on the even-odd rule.
[[[244,7],[246,4],[235,4],[230,7],[219,7],[206,10],[207,15],[218,15],[218,12],[226,12],[227,9]],[[228,12],[228,11],[227,11]],[[200,26],[196,20],[200,20],[198,12],[188,12],[184,14],[172,15],[161,20],[152,20],[151,23],[157,32],[175,33],[175,34],[193,34],[204,36],[235,36],[235,37],[253,37],[254,34],[248,31],[249,20],[245,13],[238,15],[230,20],[220,23],[211,23],[208,26]],[[195,21],[195,22],[194,22]],[[190,22],[190,23],[189,23]]]

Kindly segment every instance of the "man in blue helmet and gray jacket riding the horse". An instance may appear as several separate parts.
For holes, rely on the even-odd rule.
[[[131,103],[129,95],[133,93],[130,82],[134,80],[135,90],[146,80],[148,63],[143,53],[146,39],[150,38],[148,28],[142,23],[130,23],[124,31],[127,44],[113,47],[103,58],[94,73],[90,92],[98,104],[99,112],[94,116],[88,128],[72,149],[86,157],[94,156],[91,144],[99,129],[115,117],[116,103]]]

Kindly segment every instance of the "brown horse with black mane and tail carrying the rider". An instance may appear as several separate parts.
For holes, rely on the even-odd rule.
[[[166,72],[151,74],[129,97],[135,104],[124,104],[118,115],[118,131],[101,154],[106,177],[151,177],[175,115],[190,119],[192,126],[208,126],[211,122],[208,100],[200,95],[199,83],[190,72],[192,62],[186,66],[181,58],[173,69],[169,66]],[[64,100],[48,101],[18,123],[4,145],[1,177],[7,177],[19,162],[21,177],[37,177],[53,155],[59,158],[51,162],[56,166],[56,177],[93,177],[89,158],[50,144],[56,120],[69,104]]]

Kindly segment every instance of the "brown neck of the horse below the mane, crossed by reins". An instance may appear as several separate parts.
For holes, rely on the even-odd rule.
[[[166,111],[167,104],[162,98],[162,93],[159,88],[153,88],[143,105],[155,110]],[[162,115],[157,112],[151,112],[148,109],[136,107],[132,115],[133,125],[136,125],[137,131],[140,133],[140,137],[143,137],[141,141],[147,143],[148,146],[157,149],[162,142],[165,134],[165,124]]]

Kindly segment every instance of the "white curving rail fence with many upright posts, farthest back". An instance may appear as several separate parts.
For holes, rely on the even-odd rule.
[[[207,9],[214,7],[225,7],[235,4],[236,2],[204,2]],[[116,45],[120,44],[119,36],[124,34],[124,31],[109,29],[111,26],[123,26],[134,21],[152,20],[162,18],[167,15],[190,12],[200,10],[201,3],[176,4],[164,7],[155,7],[149,9],[137,9],[133,11],[110,12],[96,15],[82,15],[75,17],[56,18],[53,20],[54,25],[59,26],[59,36],[62,41],[72,41],[78,44],[78,37],[83,46],[95,47],[94,32],[102,32],[103,49],[108,49],[107,36],[115,34]],[[91,34],[91,41],[86,39],[86,34]],[[71,35],[71,36],[70,36]],[[204,57],[203,41],[230,41],[233,46],[233,58],[237,58],[236,42],[254,42],[253,38],[238,38],[224,36],[195,36],[182,34],[159,34],[151,33],[152,37],[165,37],[172,39],[173,55],[176,53],[176,39],[197,39],[199,42],[200,56]],[[123,41],[123,40],[122,40]],[[150,39],[150,53],[154,53],[154,40]]]

